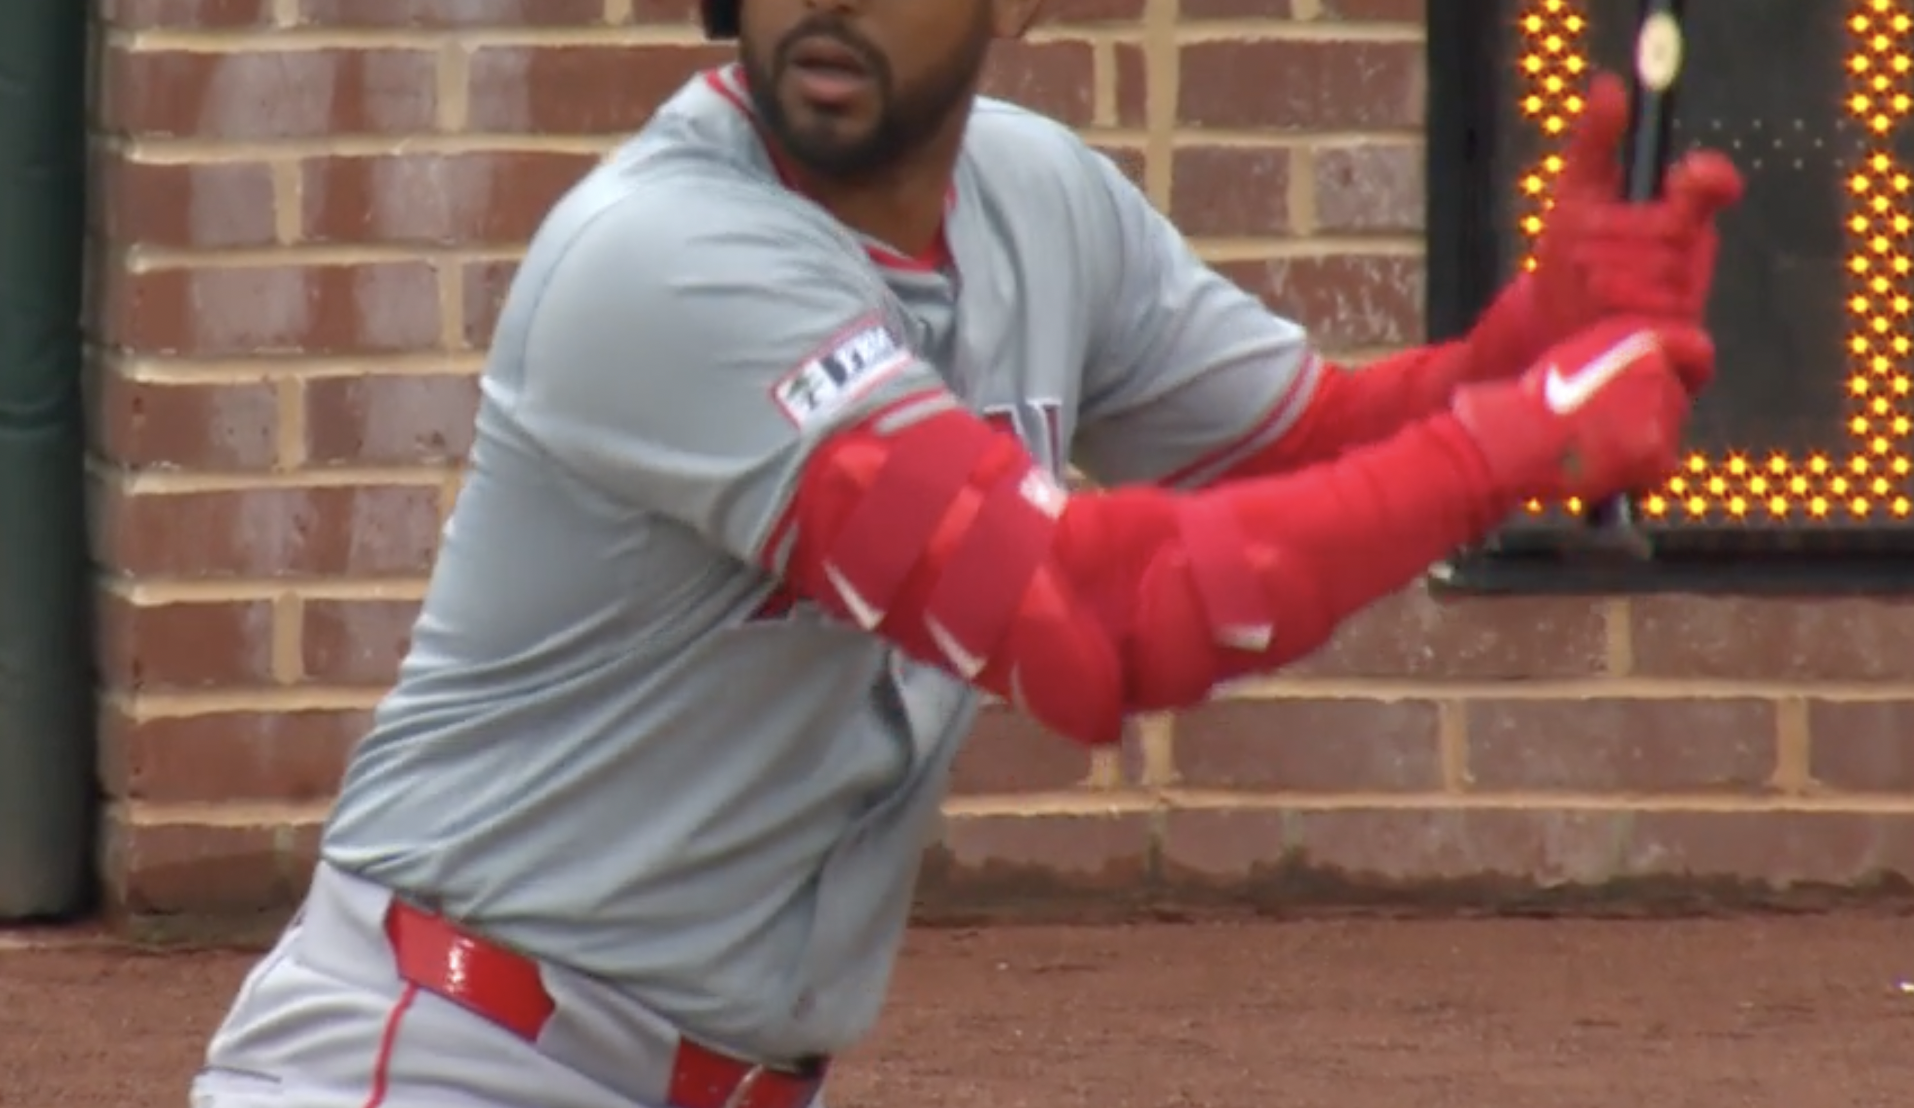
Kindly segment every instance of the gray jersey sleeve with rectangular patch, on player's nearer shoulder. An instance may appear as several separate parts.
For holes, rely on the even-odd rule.
[[[764,561],[810,452],[940,379],[821,212],[702,174],[620,188],[555,247],[509,411],[616,503]]]

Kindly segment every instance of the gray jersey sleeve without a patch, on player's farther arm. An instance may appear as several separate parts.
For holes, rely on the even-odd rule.
[[[1206,266],[1095,151],[1091,205],[1110,274],[1085,369],[1076,465],[1102,484],[1198,486],[1277,440],[1323,360],[1305,331]]]

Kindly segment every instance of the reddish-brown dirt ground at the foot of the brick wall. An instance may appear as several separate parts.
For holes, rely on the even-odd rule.
[[[0,1104],[184,1108],[247,963],[0,953]],[[1914,920],[919,932],[838,1074],[833,1108],[1904,1108]]]

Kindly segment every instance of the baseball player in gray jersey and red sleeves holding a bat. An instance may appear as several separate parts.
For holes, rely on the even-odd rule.
[[[197,1106],[812,1104],[986,695],[1114,742],[1527,498],[1675,465],[1723,157],[1614,201],[1604,78],[1535,272],[1342,371],[976,96],[1039,4],[704,0],[737,65],[530,243],[410,656]]]

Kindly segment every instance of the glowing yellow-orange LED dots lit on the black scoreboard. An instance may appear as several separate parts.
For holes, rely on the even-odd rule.
[[[1520,176],[1518,230],[1533,243],[1548,214],[1548,188],[1562,168],[1560,142],[1583,109],[1589,59],[1585,4],[1527,0],[1518,15],[1522,117],[1543,155]],[[1908,496],[1914,431],[1914,174],[1891,151],[1914,111],[1914,13],[1910,0],[1830,4],[1845,21],[1841,109],[1866,136],[1845,168],[1847,308],[1843,448],[1807,455],[1749,446],[1726,455],[1690,454],[1667,484],[1642,496],[1650,522],[1876,522],[1914,515]],[[1533,268],[1533,253],[1524,253]],[[1832,354],[1832,352],[1830,352]],[[1579,515],[1579,503],[1566,505]],[[1531,501],[1531,515],[1548,505]]]

